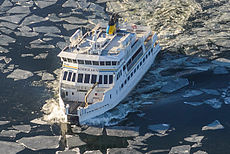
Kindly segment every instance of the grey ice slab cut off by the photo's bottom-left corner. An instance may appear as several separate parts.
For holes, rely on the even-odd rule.
[[[25,148],[15,142],[0,141],[0,153],[1,154],[16,154]]]

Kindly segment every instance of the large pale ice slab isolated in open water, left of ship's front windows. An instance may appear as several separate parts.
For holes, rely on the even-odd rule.
[[[27,79],[31,76],[33,76],[33,73],[30,71],[16,69],[11,74],[9,74],[7,78],[12,78],[14,79],[14,81],[17,81],[17,80]]]

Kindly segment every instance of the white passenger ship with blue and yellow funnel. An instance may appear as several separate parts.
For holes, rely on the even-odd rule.
[[[117,14],[84,35],[77,30],[60,54],[59,104],[71,124],[103,114],[137,85],[161,47],[150,27],[124,23]]]

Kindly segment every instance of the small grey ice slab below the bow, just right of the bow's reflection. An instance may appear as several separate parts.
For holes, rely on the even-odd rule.
[[[71,136],[71,135],[66,135],[66,144],[69,149],[74,148],[74,147],[79,147],[82,145],[86,145],[85,142],[83,142],[79,136]]]

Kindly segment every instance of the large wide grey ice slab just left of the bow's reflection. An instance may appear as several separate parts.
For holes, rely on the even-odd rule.
[[[60,139],[61,136],[35,136],[23,137],[20,140],[17,140],[17,142],[36,151],[43,149],[56,149],[59,147]]]

